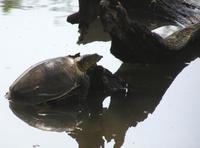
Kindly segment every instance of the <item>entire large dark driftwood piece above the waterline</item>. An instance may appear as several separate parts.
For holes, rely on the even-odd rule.
[[[111,53],[123,62],[190,62],[199,57],[200,7],[190,0],[82,0],[79,8],[68,17],[71,23],[79,23],[79,43],[89,42],[84,41],[87,32],[99,17],[111,37]],[[163,39],[151,31],[163,25],[186,28]]]

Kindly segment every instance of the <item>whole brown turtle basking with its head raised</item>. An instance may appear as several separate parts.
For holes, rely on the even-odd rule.
[[[87,70],[102,58],[80,53],[41,61],[22,73],[9,87],[6,98],[19,104],[36,105],[77,95],[84,100],[89,89]]]

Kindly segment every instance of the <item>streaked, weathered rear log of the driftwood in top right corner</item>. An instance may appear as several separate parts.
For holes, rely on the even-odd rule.
[[[149,27],[167,24],[190,25],[200,19],[199,6],[191,0],[126,0],[120,1],[131,19]],[[156,24],[156,25],[155,25]]]

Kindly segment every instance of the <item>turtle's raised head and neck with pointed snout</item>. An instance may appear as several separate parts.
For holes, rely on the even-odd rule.
[[[90,67],[95,66],[96,63],[102,58],[98,54],[86,54],[78,57],[77,66],[82,72],[86,72]]]

